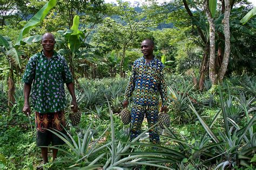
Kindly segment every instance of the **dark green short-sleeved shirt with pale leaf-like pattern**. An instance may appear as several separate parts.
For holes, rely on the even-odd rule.
[[[33,84],[31,99],[36,112],[58,112],[66,106],[64,83],[73,79],[65,58],[56,51],[50,59],[43,51],[33,55],[22,80]]]

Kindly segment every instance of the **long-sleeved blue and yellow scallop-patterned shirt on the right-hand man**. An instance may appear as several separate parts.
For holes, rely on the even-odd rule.
[[[146,63],[144,57],[133,63],[132,75],[125,91],[125,100],[133,93],[133,102],[140,105],[158,105],[159,96],[162,106],[166,106],[167,87],[164,65],[155,57]]]

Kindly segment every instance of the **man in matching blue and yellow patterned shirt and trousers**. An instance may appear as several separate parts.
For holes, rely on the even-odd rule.
[[[127,107],[128,99],[133,93],[130,140],[140,134],[144,115],[146,115],[149,127],[157,123],[159,97],[162,101],[161,111],[167,111],[164,65],[153,56],[154,42],[151,39],[143,40],[141,50],[143,57],[133,64],[132,76],[126,87],[123,102],[123,107]],[[151,129],[149,135],[150,142],[159,144],[159,134],[156,128]]]

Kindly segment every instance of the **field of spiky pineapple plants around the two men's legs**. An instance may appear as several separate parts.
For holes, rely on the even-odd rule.
[[[196,90],[193,77],[170,74],[169,111],[160,124],[160,145],[149,142],[146,120],[143,133],[129,142],[129,125],[122,122],[122,102],[128,79],[78,79],[76,87],[80,123],[72,126],[70,107],[65,114],[68,133],[57,160],[44,167],[84,169],[254,169],[255,77],[226,78],[222,84]],[[205,80],[207,84],[208,80]],[[8,107],[6,86],[1,84],[1,168],[33,169],[40,164],[35,124],[21,112],[22,85],[16,86],[15,105]],[[70,96],[67,93],[67,98]],[[68,100],[70,101],[70,100]],[[128,107],[130,109],[130,105]],[[126,111],[129,113],[129,111]],[[125,113],[126,114],[126,113]],[[160,113],[163,114],[163,113]],[[126,117],[124,117],[126,118]],[[129,119],[129,118],[126,118]],[[159,116],[160,119],[160,116]],[[127,123],[126,123],[127,124]],[[128,123],[129,124],[129,123]],[[76,125],[76,124],[75,124]],[[32,127],[31,127],[32,126]],[[164,127],[163,127],[164,126]]]

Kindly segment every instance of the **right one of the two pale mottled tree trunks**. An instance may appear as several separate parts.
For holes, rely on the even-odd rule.
[[[230,58],[230,1],[225,0],[225,13],[224,13],[224,36],[225,36],[225,50],[223,62],[221,63],[218,73],[219,81],[222,81],[227,71],[228,59]]]

